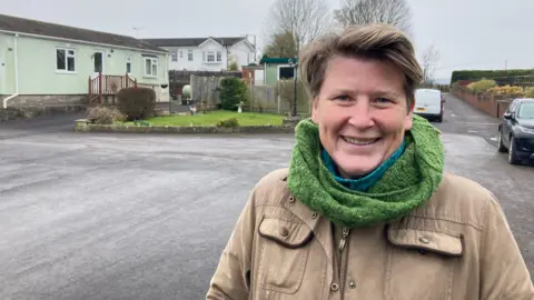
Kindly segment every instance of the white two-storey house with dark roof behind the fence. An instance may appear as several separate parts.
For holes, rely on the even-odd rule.
[[[233,61],[238,70],[256,60],[256,51],[246,37],[144,39],[169,51],[169,70],[220,71]]]

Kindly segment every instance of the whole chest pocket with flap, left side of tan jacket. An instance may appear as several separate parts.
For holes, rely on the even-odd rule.
[[[258,283],[266,290],[295,293],[303,281],[312,229],[304,222],[265,217],[258,229]]]

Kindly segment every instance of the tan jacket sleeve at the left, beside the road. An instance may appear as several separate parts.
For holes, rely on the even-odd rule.
[[[250,266],[255,224],[254,194],[241,211],[231,236],[222,250],[209,283],[208,300],[246,300],[250,291]]]

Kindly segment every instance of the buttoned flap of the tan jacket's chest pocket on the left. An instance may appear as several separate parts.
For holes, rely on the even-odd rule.
[[[259,236],[279,242],[287,248],[298,248],[308,243],[314,232],[304,222],[278,218],[264,218],[258,229]]]

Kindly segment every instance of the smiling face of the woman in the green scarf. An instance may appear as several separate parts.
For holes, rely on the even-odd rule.
[[[345,178],[372,172],[412,128],[403,84],[400,70],[384,61],[345,57],[329,61],[312,118]]]

